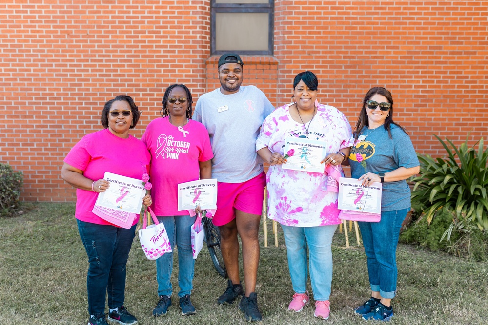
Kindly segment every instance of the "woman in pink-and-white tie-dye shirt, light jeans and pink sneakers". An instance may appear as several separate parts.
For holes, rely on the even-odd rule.
[[[317,101],[317,77],[309,72],[295,76],[290,104],[278,107],[263,123],[256,150],[271,165],[266,181],[268,216],[283,228],[293,290],[289,310],[299,312],[308,303],[307,249],[310,251],[310,281],[315,299],[315,317],[328,319],[332,282],[332,236],[341,223],[336,191],[327,171],[344,176],[341,163],[349,155],[351,126],[335,107]],[[286,138],[323,140],[327,144],[324,173],[283,169]],[[328,165],[333,166],[328,166]],[[277,166],[276,166],[277,165]]]

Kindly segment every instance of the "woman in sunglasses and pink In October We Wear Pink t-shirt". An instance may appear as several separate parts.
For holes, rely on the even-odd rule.
[[[195,260],[190,229],[195,223],[188,210],[178,210],[178,184],[211,178],[213,158],[208,132],[202,123],[192,120],[192,97],[185,85],[169,86],[163,97],[160,118],[147,126],[142,142],[151,153],[151,206],[164,224],[171,249],[178,247],[178,292],[182,315],[195,314],[190,294],[193,289]],[[156,260],[159,301],[154,316],[166,314],[171,306],[173,252]]]

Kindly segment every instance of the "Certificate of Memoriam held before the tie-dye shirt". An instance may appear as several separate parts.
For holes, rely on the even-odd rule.
[[[307,138],[288,137],[285,139],[283,169],[304,172],[324,172],[325,164],[320,163],[327,154],[327,142]]]

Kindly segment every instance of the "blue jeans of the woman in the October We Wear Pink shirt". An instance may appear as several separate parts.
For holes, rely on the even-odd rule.
[[[159,217],[159,222],[164,224],[171,244],[171,253],[165,253],[156,260],[156,278],[158,279],[158,295],[171,296],[171,272],[173,271],[173,251],[175,244],[178,246],[178,297],[191,294],[193,289],[193,275],[195,260],[191,249],[191,226],[195,223],[196,216],[189,215]]]

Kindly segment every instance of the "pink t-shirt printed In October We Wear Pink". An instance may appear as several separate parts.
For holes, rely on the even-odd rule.
[[[207,129],[194,120],[179,129],[167,116],[160,117],[149,123],[141,141],[152,157],[149,181],[154,213],[188,215],[188,210],[178,211],[178,184],[198,180],[199,161],[213,158]]]

